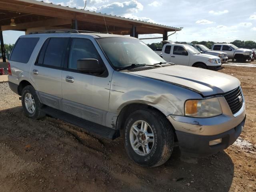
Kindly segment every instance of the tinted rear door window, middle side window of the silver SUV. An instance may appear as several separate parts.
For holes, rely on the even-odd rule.
[[[44,54],[43,64],[53,67],[61,67],[62,57],[66,51],[67,44],[68,38],[50,38]]]

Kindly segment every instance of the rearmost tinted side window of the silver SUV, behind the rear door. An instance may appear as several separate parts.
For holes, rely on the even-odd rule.
[[[12,51],[10,60],[27,63],[39,38],[19,38]]]

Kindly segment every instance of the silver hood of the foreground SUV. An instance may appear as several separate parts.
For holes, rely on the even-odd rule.
[[[130,73],[176,84],[194,90],[203,96],[223,94],[240,85],[240,81],[233,76],[207,69],[182,65],[160,67]]]

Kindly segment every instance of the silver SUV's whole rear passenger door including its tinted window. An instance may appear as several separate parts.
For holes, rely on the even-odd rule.
[[[57,109],[62,98],[61,73],[68,42],[67,36],[47,38],[30,70],[42,103]]]

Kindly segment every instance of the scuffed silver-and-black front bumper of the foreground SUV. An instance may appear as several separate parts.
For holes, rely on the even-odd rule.
[[[226,99],[218,97],[222,114],[211,118],[194,118],[169,115],[168,120],[176,130],[180,150],[189,156],[207,156],[227,148],[241,134],[246,118],[245,103],[232,114]],[[222,138],[220,144],[210,146],[209,141]]]

